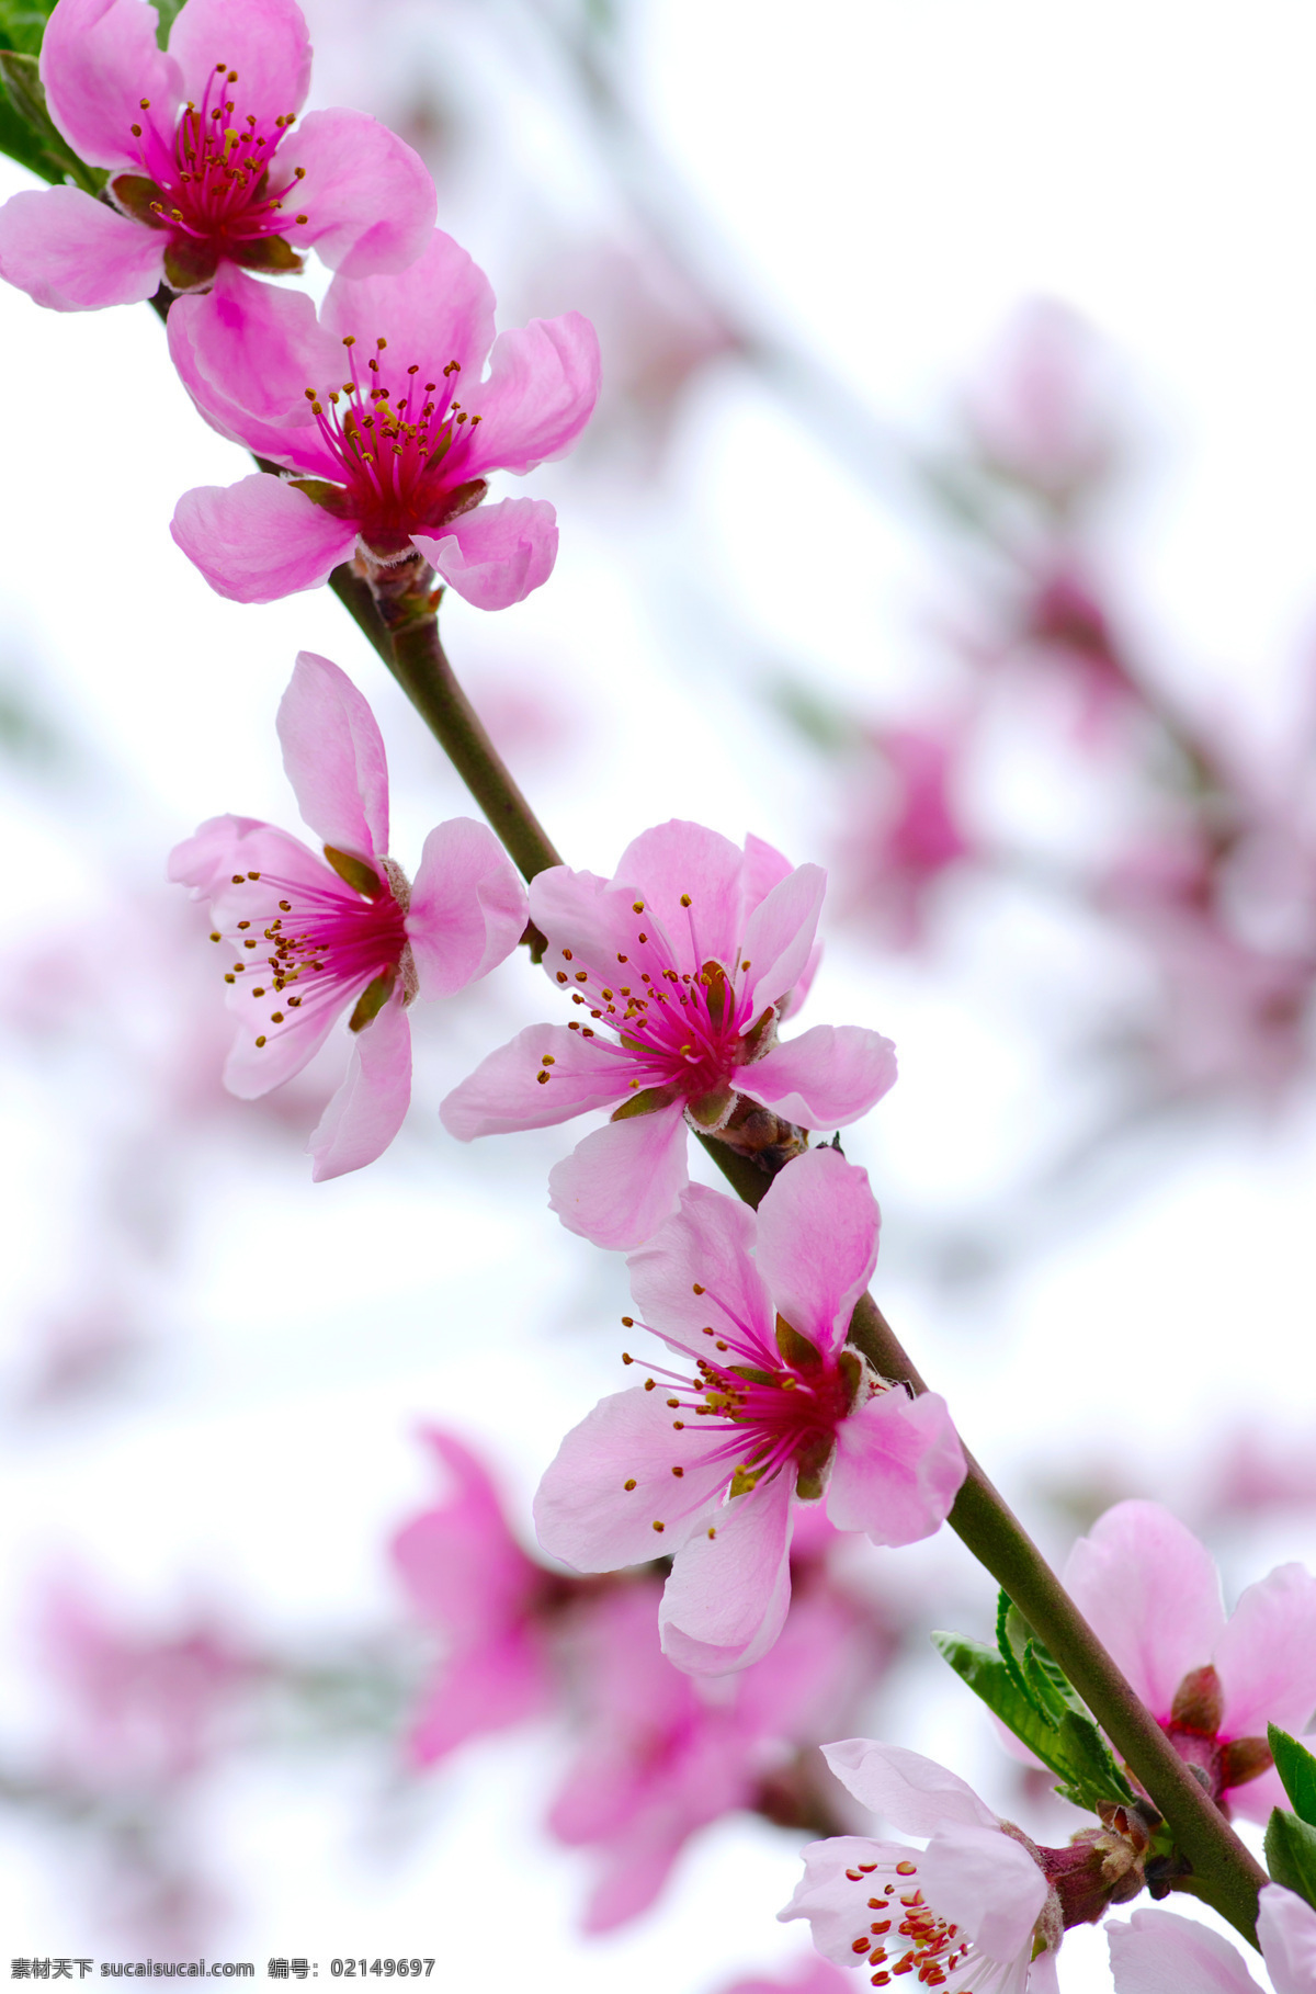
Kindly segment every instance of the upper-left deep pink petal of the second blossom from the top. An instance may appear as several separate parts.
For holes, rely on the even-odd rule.
[[[191,4],[191,0],[187,0]],[[305,391],[343,377],[343,347],[305,291],[221,263],[199,297],[169,305],[169,359],[199,413],[229,443],[305,477],[341,479]]]

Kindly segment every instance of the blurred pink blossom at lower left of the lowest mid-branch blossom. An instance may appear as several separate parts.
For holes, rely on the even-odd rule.
[[[538,1717],[552,1703],[540,1613],[560,1581],[512,1537],[498,1494],[471,1450],[439,1428],[423,1434],[451,1496],[393,1539],[393,1563],[447,1655],[413,1719],[409,1751],[435,1765],[471,1737]]]

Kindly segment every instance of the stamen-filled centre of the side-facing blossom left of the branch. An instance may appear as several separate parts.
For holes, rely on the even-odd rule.
[[[333,859],[341,853],[333,853]],[[253,1015],[255,1045],[293,1029],[309,1029],[325,1019],[325,1011],[341,1011],[353,995],[357,1007],[353,1029],[369,1025],[403,975],[403,1001],[415,995],[415,971],[407,945],[405,879],[399,899],[393,885],[393,861],[385,879],[361,859],[345,859],[355,867],[361,885],[375,881],[373,891],[357,891],[325,873],[325,883],[283,879],[273,871],[233,873],[233,895],[225,893],[225,913],[249,907],[241,919],[229,919],[211,929],[211,941],[229,943],[233,961],[223,981],[251,991],[259,1005]],[[399,875],[401,877],[401,875]],[[237,889],[243,889],[237,895]],[[273,1027],[273,1031],[271,1031]]]

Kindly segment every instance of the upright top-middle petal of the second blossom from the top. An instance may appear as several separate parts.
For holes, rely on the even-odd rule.
[[[457,361],[471,387],[493,345],[494,295],[485,271],[443,229],[399,275],[347,277],[329,285],[321,325],[337,339],[389,341],[395,371],[417,365],[425,379]],[[457,399],[469,395],[457,387]]]

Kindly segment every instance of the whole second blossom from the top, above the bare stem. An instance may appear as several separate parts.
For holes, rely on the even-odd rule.
[[[357,548],[375,566],[417,548],[483,610],[548,580],[548,500],[483,500],[493,471],[520,477],[572,447],[598,341],[574,311],[494,341],[489,279],[451,235],[435,229],[401,275],[339,273],[319,317],[273,285],[179,299],[169,353],[205,421],[287,473],[179,498],[173,538],[221,596],[317,588]]]

